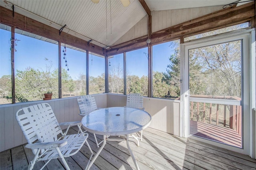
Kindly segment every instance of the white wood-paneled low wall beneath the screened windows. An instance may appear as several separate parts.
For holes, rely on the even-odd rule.
[[[97,107],[126,106],[126,95],[95,94]],[[152,116],[150,127],[179,135],[180,101],[144,97],[144,107]],[[18,109],[45,101],[7,104],[0,106],[0,152],[26,143],[15,114]],[[80,121],[77,98],[53,99],[47,101],[58,122]],[[66,128],[66,127],[62,127]],[[22,140],[20,140],[22,139]]]

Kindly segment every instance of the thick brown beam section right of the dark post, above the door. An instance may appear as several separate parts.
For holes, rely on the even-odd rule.
[[[152,33],[152,44],[159,44],[181,36],[187,37],[250,21],[254,18],[254,2],[219,10],[205,16]]]

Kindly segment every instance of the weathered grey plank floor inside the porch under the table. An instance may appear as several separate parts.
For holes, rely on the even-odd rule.
[[[73,127],[70,133],[76,133]],[[102,136],[98,135],[98,140]],[[116,138],[116,137],[112,137]],[[97,152],[94,137],[89,133],[88,142],[92,150]],[[23,170],[28,168],[28,162],[33,155],[30,149],[23,146],[15,147],[0,153],[0,170]],[[186,139],[147,128],[143,131],[140,147],[130,141],[130,147],[141,170],[255,170],[256,160],[249,156],[221,149],[192,139]],[[86,145],[74,156],[65,158],[70,169],[81,170],[86,167],[89,158]],[[40,169],[44,163],[37,162],[34,170]],[[44,170],[63,170],[60,160],[51,160]],[[126,142],[107,141],[100,156],[94,162],[91,170],[132,170],[135,169],[128,152]]]

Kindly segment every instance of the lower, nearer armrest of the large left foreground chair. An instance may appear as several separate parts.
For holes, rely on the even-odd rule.
[[[42,143],[31,143],[27,144],[25,147],[30,149],[50,149],[56,147],[63,147],[68,142],[66,140],[54,141],[54,142],[42,142]]]

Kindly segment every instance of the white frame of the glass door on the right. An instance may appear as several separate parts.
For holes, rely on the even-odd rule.
[[[252,36],[254,35],[254,36]],[[253,65],[251,62],[254,61],[255,63],[255,31],[254,29],[247,29],[247,30],[236,30],[229,33],[224,33],[221,35],[214,35],[210,37],[205,37],[202,39],[196,39],[193,41],[189,41],[180,45],[181,57],[180,57],[180,72],[181,72],[181,115],[180,115],[180,136],[188,137],[190,139],[195,139],[198,141],[202,141],[204,143],[209,143],[211,145],[215,145],[218,147],[222,147],[228,150],[233,150],[235,152],[240,152],[242,154],[250,154],[250,156],[255,156],[255,153],[252,153],[251,150],[254,148],[255,145],[252,145],[252,138],[254,136],[254,143],[255,143],[255,122],[252,121],[252,108],[255,107],[255,99],[253,100],[253,96],[255,98],[255,83],[242,83],[242,91],[243,91],[243,127],[242,127],[242,134],[243,134],[243,148],[236,148],[229,145],[225,145],[222,143],[217,143],[213,141],[209,141],[207,139],[202,139],[199,137],[189,135],[189,78],[188,78],[188,71],[189,71],[189,63],[188,63],[188,50],[205,47],[209,45],[225,43],[229,41],[236,41],[242,39],[242,81],[243,82],[255,82],[255,64]],[[254,44],[254,46],[253,46]],[[254,48],[254,50],[253,50]],[[254,53],[253,53],[254,51]],[[253,87],[254,85],[254,87]],[[251,93],[250,93],[251,92]],[[251,120],[251,121],[250,121]],[[254,127],[254,131],[252,130]],[[253,147],[254,146],[254,147]]]

